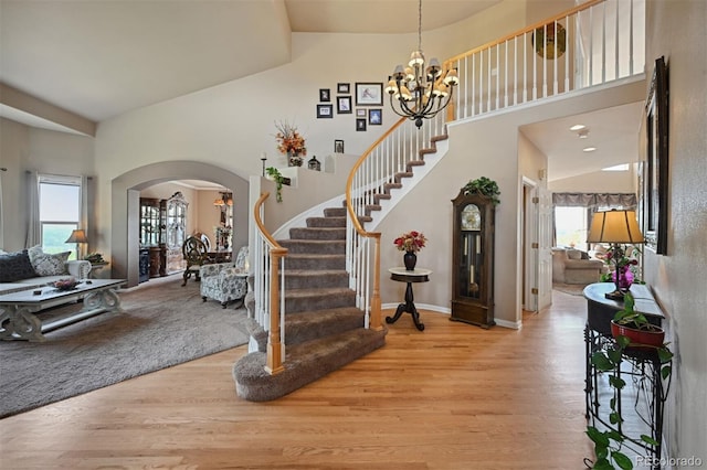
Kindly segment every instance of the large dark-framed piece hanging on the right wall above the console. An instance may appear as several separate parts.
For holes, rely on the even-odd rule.
[[[667,184],[668,184],[668,88],[664,57],[655,61],[651,90],[645,103],[642,137],[645,140],[642,164],[643,236],[648,249],[667,254]]]

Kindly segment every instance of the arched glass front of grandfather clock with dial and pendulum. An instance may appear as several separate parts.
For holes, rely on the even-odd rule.
[[[462,297],[478,299],[482,290],[482,212],[476,204],[466,204],[460,212],[460,291]]]

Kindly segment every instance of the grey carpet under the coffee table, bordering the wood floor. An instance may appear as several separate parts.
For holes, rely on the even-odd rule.
[[[0,418],[247,342],[244,308],[203,302],[199,284],[181,281],[171,276],[119,291],[125,312],[45,333],[45,342],[0,341]]]

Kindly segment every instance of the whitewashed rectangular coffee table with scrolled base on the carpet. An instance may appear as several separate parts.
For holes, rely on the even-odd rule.
[[[45,341],[43,333],[106,311],[119,311],[116,289],[126,279],[83,279],[72,290],[52,286],[0,296],[0,340]],[[83,308],[60,318],[42,321],[35,313],[83,298]]]

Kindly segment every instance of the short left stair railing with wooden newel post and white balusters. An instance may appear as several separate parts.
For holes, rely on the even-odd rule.
[[[285,362],[285,256],[283,248],[263,224],[264,204],[270,193],[261,194],[253,209],[255,220],[254,296],[255,321],[267,331],[265,371],[277,374]]]

